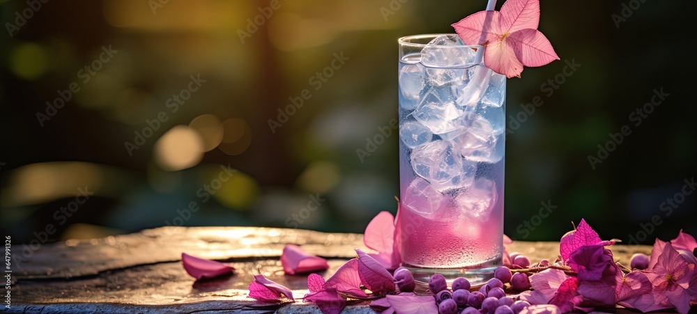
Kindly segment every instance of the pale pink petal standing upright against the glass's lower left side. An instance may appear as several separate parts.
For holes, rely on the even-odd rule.
[[[387,269],[399,267],[401,258],[395,242],[395,217],[390,212],[380,212],[365,227],[363,243],[378,253],[368,253]]]

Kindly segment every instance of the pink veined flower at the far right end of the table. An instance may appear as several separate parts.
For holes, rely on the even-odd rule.
[[[690,300],[697,297],[694,293],[697,270],[693,263],[694,256],[687,251],[680,251],[673,248],[672,244],[666,243],[656,264],[651,268],[651,272],[646,273],[646,276],[653,284],[652,293],[656,299],[659,295],[665,296],[678,312],[687,313],[690,309]]]

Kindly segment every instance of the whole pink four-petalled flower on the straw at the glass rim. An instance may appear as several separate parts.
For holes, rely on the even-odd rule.
[[[523,65],[538,67],[559,60],[537,31],[539,0],[508,0],[499,11],[480,11],[452,24],[466,45],[482,45],[487,68],[520,77]]]

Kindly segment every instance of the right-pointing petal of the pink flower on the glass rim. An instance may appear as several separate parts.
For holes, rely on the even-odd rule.
[[[511,33],[506,43],[513,47],[518,60],[528,67],[539,67],[559,60],[552,44],[537,29],[521,29]]]

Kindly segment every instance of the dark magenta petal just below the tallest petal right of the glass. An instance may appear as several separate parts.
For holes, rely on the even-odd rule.
[[[612,253],[608,252],[599,245],[581,246],[569,256],[567,265],[579,274],[579,280],[597,281],[602,278],[607,266],[614,264]]]

